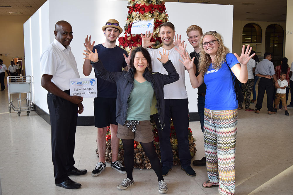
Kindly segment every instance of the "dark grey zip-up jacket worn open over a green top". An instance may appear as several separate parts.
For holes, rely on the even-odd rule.
[[[134,70],[122,71],[122,72],[108,72],[103,63],[99,60],[96,63],[91,62],[91,65],[96,71],[96,74],[109,82],[116,83],[117,86],[117,100],[116,100],[116,121],[120,125],[124,125],[126,121],[126,113],[128,109],[127,100],[134,87]],[[164,85],[173,83],[179,80],[179,75],[176,72],[172,62],[169,60],[163,64],[163,67],[167,70],[168,75],[164,75],[158,72],[150,73],[149,69],[143,73],[144,78],[149,81],[154,89],[157,100],[157,110],[159,115],[160,129],[164,127],[164,115],[165,115],[165,100],[164,100]]]

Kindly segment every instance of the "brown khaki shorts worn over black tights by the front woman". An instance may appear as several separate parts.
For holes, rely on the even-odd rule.
[[[127,120],[125,124],[128,122]],[[154,141],[154,134],[151,129],[151,122],[149,120],[139,121],[136,125],[136,131],[132,132],[132,126],[118,124],[117,137],[120,139],[134,139],[142,143],[149,143]]]

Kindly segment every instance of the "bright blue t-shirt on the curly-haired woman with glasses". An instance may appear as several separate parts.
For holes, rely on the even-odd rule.
[[[238,64],[234,54],[226,54],[226,61],[230,68]],[[229,67],[222,62],[221,68],[215,70],[212,63],[209,65],[204,76],[207,85],[205,96],[205,108],[210,110],[234,110],[238,107],[235,88]],[[233,79],[235,76],[233,74]]]

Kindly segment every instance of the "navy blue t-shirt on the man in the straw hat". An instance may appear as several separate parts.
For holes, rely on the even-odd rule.
[[[126,54],[127,57],[128,54],[124,49],[118,46],[114,48],[106,48],[103,44],[95,45],[93,47],[93,52],[95,52],[95,49],[97,49],[99,59],[103,62],[105,69],[109,72],[121,72],[122,68],[127,66],[123,54]],[[116,98],[116,83],[111,83],[101,79],[96,72],[95,75],[97,78],[98,97]]]

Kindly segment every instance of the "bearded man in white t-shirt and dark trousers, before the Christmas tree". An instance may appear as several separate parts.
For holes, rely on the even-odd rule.
[[[178,138],[178,152],[181,169],[184,170],[187,175],[195,176],[196,173],[190,166],[191,155],[188,141],[189,116],[188,98],[185,87],[185,67],[182,63],[179,62],[181,57],[180,54],[176,51],[178,47],[173,43],[175,27],[172,23],[166,22],[159,26],[159,32],[163,46],[149,51],[153,62],[153,72],[168,74],[165,68],[163,68],[162,63],[157,60],[157,58],[160,58],[159,52],[162,54],[163,49],[166,49],[167,53],[169,52],[169,59],[172,61],[177,73],[180,76],[178,81],[164,85],[165,126],[162,130],[158,130],[160,139],[161,163],[163,164],[162,174],[163,176],[167,175],[173,167],[173,152],[170,142],[170,124],[172,118],[176,136]],[[142,36],[142,47],[147,48],[151,44],[154,44],[154,42],[150,42],[151,36],[152,34],[146,34],[145,37]]]

